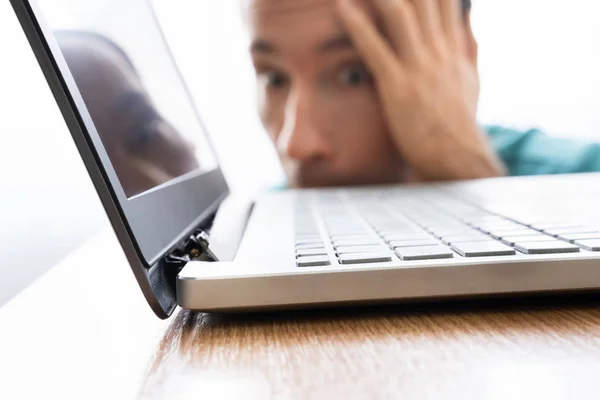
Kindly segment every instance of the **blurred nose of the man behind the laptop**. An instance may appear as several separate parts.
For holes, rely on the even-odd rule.
[[[321,111],[315,98],[308,93],[296,92],[290,96],[277,141],[278,150],[298,161],[329,157],[332,148]]]

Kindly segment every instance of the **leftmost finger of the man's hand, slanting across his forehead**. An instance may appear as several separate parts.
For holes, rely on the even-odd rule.
[[[393,69],[399,67],[393,50],[377,30],[374,21],[354,0],[339,0],[338,4],[342,21],[357,51],[375,78],[385,79]]]

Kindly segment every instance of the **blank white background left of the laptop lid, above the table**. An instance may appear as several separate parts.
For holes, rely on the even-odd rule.
[[[106,220],[7,1],[0,38],[1,305]]]

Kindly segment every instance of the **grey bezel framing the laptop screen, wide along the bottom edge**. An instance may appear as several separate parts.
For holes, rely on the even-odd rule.
[[[69,103],[78,116],[79,126],[75,130],[86,136],[95,161],[101,163],[110,183],[111,194],[122,210],[140,256],[147,265],[155,264],[204,219],[214,214],[216,207],[229,193],[223,173],[219,166],[210,172],[193,171],[158,188],[127,198],[52,29],[44,20],[37,2],[25,2],[29,3],[48,56],[52,58],[55,72],[61,78]],[[193,102],[189,93],[186,95]],[[199,116],[197,119],[206,132]],[[69,128],[74,130],[72,126]],[[207,140],[210,141],[209,138]]]

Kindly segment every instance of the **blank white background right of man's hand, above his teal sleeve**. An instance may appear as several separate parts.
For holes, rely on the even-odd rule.
[[[480,119],[600,139],[600,2],[473,3]]]

